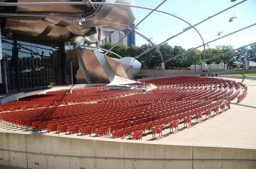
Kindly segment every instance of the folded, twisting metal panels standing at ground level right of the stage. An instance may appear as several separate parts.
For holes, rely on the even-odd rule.
[[[69,50],[67,55],[69,55],[69,58],[75,58],[77,55],[80,70],[76,77],[79,79],[79,83],[84,81],[88,83],[109,83],[114,79],[115,75],[133,79],[137,75],[133,73],[138,72],[137,70],[134,71],[134,67],[138,69],[141,66],[139,61],[135,59],[134,61],[131,57],[123,59],[123,63],[121,63],[107,55],[86,48]],[[126,64],[124,62],[129,63]]]

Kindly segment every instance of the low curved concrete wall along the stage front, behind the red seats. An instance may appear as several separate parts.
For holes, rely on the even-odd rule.
[[[6,96],[1,97],[0,99],[0,105],[10,102],[10,101],[16,101],[19,100],[20,98],[31,96],[34,94],[43,94],[46,92],[52,92],[56,90],[66,90],[66,89],[75,89],[75,88],[80,88],[80,87],[86,87],[86,86],[94,86],[94,85],[107,85],[107,84],[80,84],[80,85],[65,85],[65,86],[57,86],[57,87],[52,87],[50,89],[43,89],[43,90],[37,90],[33,92],[15,92],[15,93],[8,93]]]

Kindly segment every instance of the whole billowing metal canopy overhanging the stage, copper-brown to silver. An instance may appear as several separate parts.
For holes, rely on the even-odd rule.
[[[101,0],[96,1],[101,2]],[[46,2],[46,0],[18,0],[17,2]],[[52,0],[48,0],[48,2],[52,2]],[[55,0],[54,2],[74,2],[74,0]],[[106,0],[105,2],[133,4],[133,0]],[[17,6],[17,14],[41,14],[45,15],[45,18],[6,18],[5,29],[25,35],[48,37],[57,41],[73,43],[88,41],[95,43],[98,41],[99,37],[98,32],[92,33],[92,29],[95,29],[95,27],[101,29],[100,37],[104,39],[110,35],[112,31],[129,27],[135,20],[134,8],[119,5],[101,5],[95,15],[91,17],[91,19],[98,21],[86,20],[82,22],[83,25],[76,25],[76,18],[47,17],[47,15],[60,15],[81,18],[81,15],[88,15],[92,12],[93,9],[87,5],[80,5],[79,7],[78,5]],[[61,38],[59,37],[60,34],[63,34]]]

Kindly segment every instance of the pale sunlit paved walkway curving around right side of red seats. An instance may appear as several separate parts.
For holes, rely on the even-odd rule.
[[[224,78],[228,79],[228,78]],[[163,131],[164,138],[155,140],[159,142],[172,143],[203,143],[217,144],[220,146],[249,146],[256,149],[256,81],[247,79],[230,79],[242,82],[248,87],[248,94],[244,100],[237,103],[234,99],[231,109],[221,112],[220,115],[213,115],[211,119],[205,119],[202,123],[192,120],[192,127],[184,128],[179,125],[180,132],[170,134],[170,129]],[[241,92],[240,92],[241,93]],[[213,113],[212,113],[213,114]],[[143,140],[152,140],[152,134],[143,137]]]

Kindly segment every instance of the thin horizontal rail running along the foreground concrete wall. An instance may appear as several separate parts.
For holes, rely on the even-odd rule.
[[[0,149],[0,151],[8,151],[8,152],[15,152],[15,153],[25,153],[25,154],[33,154],[33,155],[41,155],[41,156],[54,156],[54,157],[69,157],[69,158],[92,158],[92,159],[109,159],[109,160],[134,160],[134,161],[212,161],[212,162],[252,162],[256,163],[256,160],[205,160],[205,159],[198,159],[198,160],[190,160],[190,159],[142,159],[142,158],[104,158],[104,157],[85,157],[85,156],[65,156],[65,155],[54,155],[54,154],[43,154],[43,153],[31,153],[31,152],[24,152],[24,151],[13,151],[13,150],[4,150]]]

